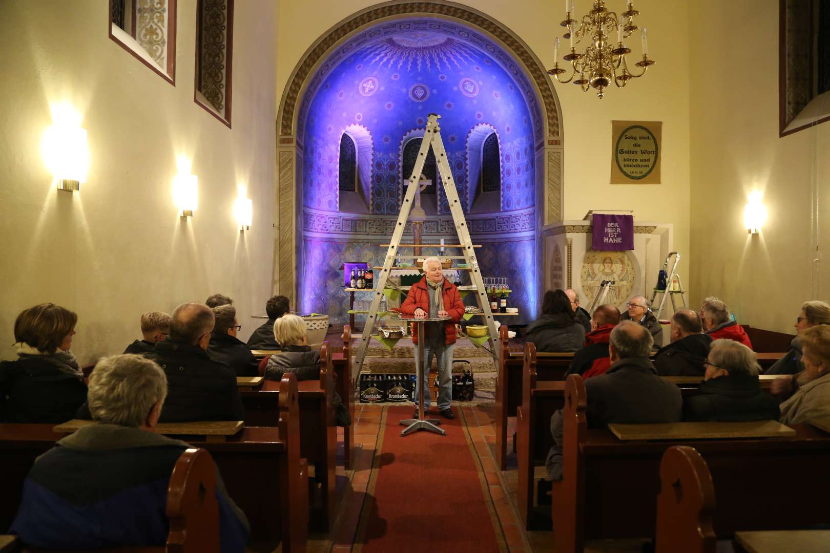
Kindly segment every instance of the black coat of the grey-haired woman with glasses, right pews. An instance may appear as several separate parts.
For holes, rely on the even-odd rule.
[[[779,402],[764,390],[758,376],[720,376],[702,382],[683,402],[684,420],[740,422],[779,420]]]

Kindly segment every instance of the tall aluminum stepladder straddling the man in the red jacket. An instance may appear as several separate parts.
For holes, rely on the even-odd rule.
[[[472,240],[470,238],[470,230],[467,228],[464,211],[461,209],[461,200],[458,198],[456,184],[452,179],[452,171],[450,170],[450,163],[449,160],[447,160],[447,152],[444,149],[444,143],[441,139],[441,128],[438,125],[438,119],[441,119],[441,115],[429,114],[427,118],[427,129],[424,132],[421,148],[418,150],[417,161],[415,162],[413,173],[409,177],[409,186],[407,187],[406,195],[403,196],[401,212],[398,214],[398,221],[395,223],[395,230],[392,234],[392,240],[389,240],[386,258],[383,260],[383,267],[379,271],[378,279],[376,279],[377,284],[375,284],[374,293],[372,294],[372,305],[369,308],[369,314],[366,316],[364,331],[360,336],[358,351],[355,354],[354,363],[352,364],[352,377],[354,378],[355,385],[359,382],[359,375],[364,366],[366,351],[369,349],[369,342],[371,341],[375,326],[378,323],[378,308],[380,307],[380,300],[383,298],[383,289],[386,288],[389,274],[393,269],[393,262],[396,259],[416,259],[414,255],[400,255],[398,250],[400,248],[413,247],[413,245],[402,245],[401,239],[403,238],[403,230],[406,227],[409,213],[413,208],[415,192],[417,190],[417,186],[414,185],[417,185],[418,177],[420,177],[423,172],[423,165],[427,160],[429,148],[432,148],[432,152],[435,154],[438,172],[441,174],[441,184],[444,189],[444,193],[447,196],[447,203],[449,204],[450,212],[452,213],[452,221],[455,224],[456,233],[458,235],[458,245],[444,245],[443,247],[460,249],[462,254],[444,255],[443,257],[454,260],[463,259],[466,261],[467,267],[470,269],[468,271],[470,273],[470,279],[472,284],[476,287],[476,302],[483,312],[481,315],[485,319],[487,332],[489,334],[489,352],[493,356],[494,360],[496,360],[496,371],[498,371],[498,362],[496,359],[498,351],[498,348],[496,347],[496,340],[498,335],[496,334],[496,325],[494,324],[490,302],[487,301],[486,298],[484,280],[481,277],[481,269],[479,269],[475,249],[473,248]],[[435,244],[434,246],[440,247],[438,244]]]

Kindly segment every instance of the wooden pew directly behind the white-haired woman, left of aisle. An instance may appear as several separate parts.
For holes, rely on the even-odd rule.
[[[313,517],[315,530],[328,531],[334,523],[334,473],[337,462],[337,427],[334,426],[334,377],[329,344],[320,347],[320,379],[297,383],[300,405],[300,456],[315,465],[322,485],[323,516]],[[281,401],[279,383],[264,381],[259,390],[242,391],[246,426],[273,426]]]

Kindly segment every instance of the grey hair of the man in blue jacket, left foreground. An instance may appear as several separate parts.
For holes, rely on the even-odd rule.
[[[104,357],[90,375],[86,400],[95,422],[138,428],[167,395],[167,376],[147,357]]]

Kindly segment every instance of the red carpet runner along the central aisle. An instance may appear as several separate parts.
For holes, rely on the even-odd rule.
[[[453,411],[455,420],[442,419],[446,436],[401,436],[398,421],[413,408],[384,410],[355,551],[506,551],[463,414]]]

